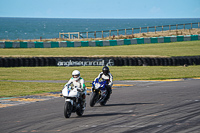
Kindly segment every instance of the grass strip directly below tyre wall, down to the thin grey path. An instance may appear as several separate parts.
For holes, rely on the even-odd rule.
[[[78,69],[86,81],[101,72],[101,66],[0,68],[0,80],[68,80]],[[200,66],[110,66],[115,80],[153,80],[200,77]]]

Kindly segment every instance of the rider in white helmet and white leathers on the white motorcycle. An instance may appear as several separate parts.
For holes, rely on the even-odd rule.
[[[82,97],[82,107],[85,109],[86,107],[86,94],[87,88],[85,86],[85,81],[83,78],[80,77],[80,71],[74,70],[72,72],[72,78],[65,84],[69,90],[71,90],[70,85],[78,87],[81,89],[81,97]]]

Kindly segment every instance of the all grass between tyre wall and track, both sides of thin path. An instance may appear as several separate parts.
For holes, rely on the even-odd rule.
[[[92,81],[99,74],[101,68],[98,66],[0,68],[0,97],[60,91],[64,85],[64,83],[8,82],[7,80],[67,81],[71,77],[71,72],[78,69],[86,81]],[[200,77],[200,66],[112,66],[110,70],[114,80],[157,80]],[[88,82],[86,85],[90,86]]]

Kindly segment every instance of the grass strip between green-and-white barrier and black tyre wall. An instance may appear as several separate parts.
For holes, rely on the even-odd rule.
[[[195,56],[200,55],[200,41],[123,45],[114,47],[14,48],[0,49],[0,57],[66,56]]]

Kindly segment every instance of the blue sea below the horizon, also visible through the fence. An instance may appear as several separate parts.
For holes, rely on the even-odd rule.
[[[123,29],[132,29],[140,27],[154,27],[162,25],[176,25],[185,23],[197,23],[200,18],[172,18],[172,19],[71,19],[71,18],[4,18],[0,17],[0,39],[51,39],[59,38],[59,32],[89,32],[89,37],[109,36],[109,30],[119,29],[119,34],[124,34]],[[172,26],[171,29],[175,29]],[[180,29],[183,26],[178,27]],[[191,25],[186,25],[191,28]],[[194,24],[193,28],[198,28],[198,24]],[[168,30],[165,27],[164,30]],[[156,30],[161,30],[157,28]],[[155,31],[150,28],[149,31]],[[146,32],[142,28],[142,32]],[[139,33],[139,29],[135,29],[134,33]],[[116,35],[117,31],[112,31],[112,35]],[[127,34],[132,34],[132,30],[127,30]],[[86,33],[81,34],[86,37]]]

